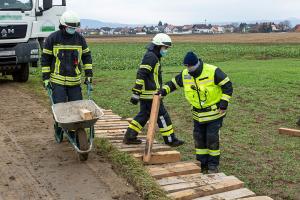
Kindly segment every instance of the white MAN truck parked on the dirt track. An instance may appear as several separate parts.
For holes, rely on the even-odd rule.
[[[59,28],[66,0],[0,0],[0,75],[26,82],[44,40]]]

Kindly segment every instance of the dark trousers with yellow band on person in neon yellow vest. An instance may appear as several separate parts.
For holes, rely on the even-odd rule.
[[[220,162],[219,131],[223,118],[212,122],[200,124],[194,120],[194,141],[196,159],[201,162],[201,167],[218,167]]]

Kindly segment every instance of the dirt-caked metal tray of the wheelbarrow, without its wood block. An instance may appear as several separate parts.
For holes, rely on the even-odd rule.
[[[80,109],[90,110],[93,119],[83,120],[80,116]],[[92,100],[79,100],[52,105],[52,112],[58,125],[66,130],[76,130],[79,128],[90,128],[104,113]]]

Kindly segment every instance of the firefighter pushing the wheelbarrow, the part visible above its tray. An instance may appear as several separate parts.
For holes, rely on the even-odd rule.
[[[51,86],[54,103],[82,99],[82,70],[85,71],[85,83],[92,80],[91,52],[85,39],[76,32],[79,27],[77,14],[66,11],[60,19],[60,30],[52,33],[44,44],[43,81],[46,87]]]

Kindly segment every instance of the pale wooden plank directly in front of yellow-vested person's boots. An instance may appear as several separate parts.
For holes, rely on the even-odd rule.
[[[204,184],[208,185],[210,182],[213,182],[216,179],[220,179],[221,177],[225,177],[224,173],[216,173],[204,175],[201,173],[195,174],[187,174],[187,175],[179,175],[172,176],[167,178],[158,179],[157,183],[160,186],[172,185],[177,183],[188,183],[188,182],[204,182]]]

